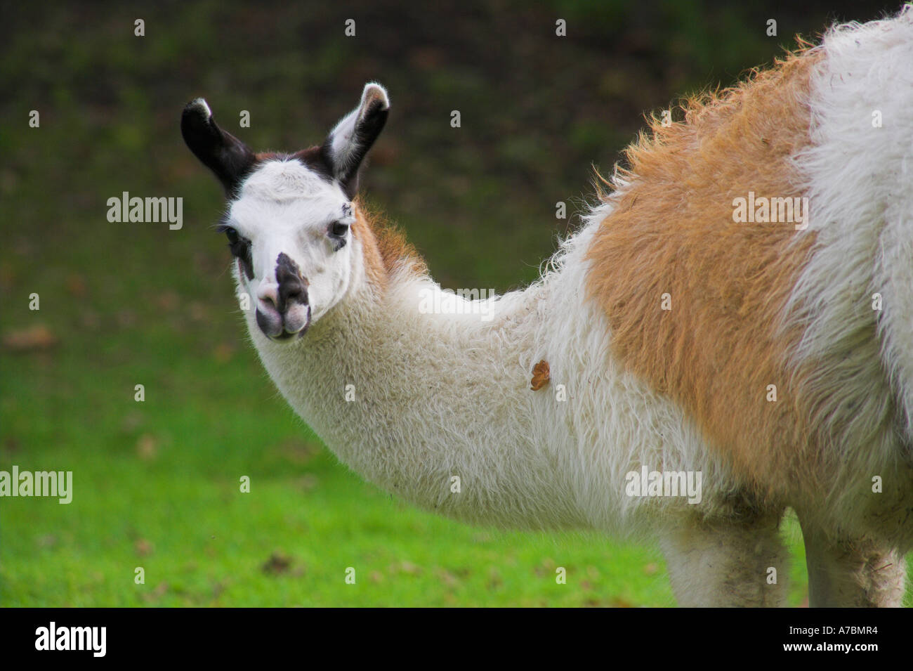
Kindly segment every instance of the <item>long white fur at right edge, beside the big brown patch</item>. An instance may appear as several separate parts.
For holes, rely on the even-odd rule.
[[[817,372],[798,393],[820,400],[813,425],[824,427],[841,474],[813,516],[858,535],[878,532],[868,519],[873,506],[883,517],[913,505],[913,8],[835,27],[823,48],[812,80],[812,148],[795,157],[811,208],[800,238],[816,242],[788,323],[804,330],[796,369]],[[882,495],[871,491],[875,476],[886,481]],[[898,538],[895,524],[883,532]],[[902,535],[913,542],[909,525]]]

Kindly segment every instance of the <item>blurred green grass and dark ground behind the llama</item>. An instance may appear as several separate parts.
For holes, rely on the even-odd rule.
[[[205,96],[251,148],[294,151],[380,81],[362,194],[442,286],[504,291],[537,277],[645,113],[899,3],[125,5],[3,3],[0,469],[72,470],[74,495],[0,498],[0,605],[674,604],[649,546],[468,528],[336,462],[246,342],[221,190],[181,110]],[[183,228],[110,223],[125,191],[183,197]]]

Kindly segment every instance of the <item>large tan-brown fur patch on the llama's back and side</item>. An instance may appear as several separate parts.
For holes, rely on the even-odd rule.
[[[767,491],[816,459],[810,408],[791,392],[785,362],[800,334],[779,330],[813,236],[791,244],[792,223],[734,223],[733,199],[803,195],[790,158],[809,142],[819,58],[791,55],[734,89],[687,100],[684,122],[652,119],[651,136],[626,152],[620,173],[631,185],[608,197],[614,211],[587,252],[588,295],[608,316],[612,355]],[[661,309],[666,293],[670,310]]]

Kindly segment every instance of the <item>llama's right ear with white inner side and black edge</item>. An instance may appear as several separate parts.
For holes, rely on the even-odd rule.
[[[383,86],[365,84],[362,102],[336,124],[320,148],[333,177],[350,198],[358,190],[359,166],[381,134],[389,112],[390,99]]]

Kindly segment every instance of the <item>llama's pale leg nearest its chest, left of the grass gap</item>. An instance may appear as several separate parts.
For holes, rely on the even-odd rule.
[[[698,521],[666,533],[660,545],[678,604],[784,605],[789,555],[778,526],[775,516],[753,522]]]

